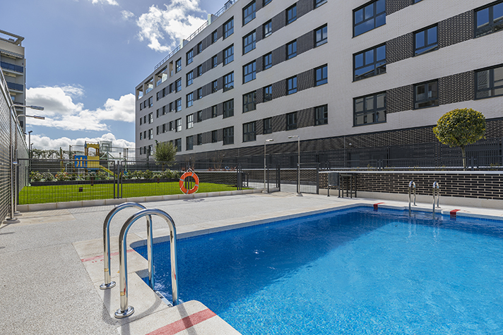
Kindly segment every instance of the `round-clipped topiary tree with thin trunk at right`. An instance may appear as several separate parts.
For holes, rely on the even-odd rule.
[[[461,147],[463,169],[466,169],[465,146],[484,137],[485,117],[473,109],[454,109],[439,118],[433,133],[444,145]]]

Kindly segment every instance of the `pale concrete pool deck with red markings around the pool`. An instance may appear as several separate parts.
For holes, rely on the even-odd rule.
[[[355,204],[408,206],[403,201],[292,193],[201,197],[143,202],[172,216],[179,238],[247,226],[277,218],[296,217]],[[503,220],[503,210],[440,205],[444,214],[491,216]],[[0,226],[0,334],[239,334],[196,301],[168,307],[136,272],[146,260],[128,252],[129,305],[134,315],[115,319],[118,284],[102,291],[102,225],[114,205],[25,212],[18,224]],[[503,208],[503,206],[501,207]],[[431,202],[413,209],[432,211]],[[112,280],[118,281],[117,236],[136,209],[124,209],[110,227]],[[143,220],[142,220],[143,221]],[[165,236],[165,222],[154,219],[154,238]],[[128,243],[146,238],[145,224],[134,224]]]

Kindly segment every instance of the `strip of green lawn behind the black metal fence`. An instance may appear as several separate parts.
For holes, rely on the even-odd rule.
[[[117,188],[117,185],[115,185]],[[236,190],[234,185],[200,183],[198,193]],[[182,194],[177,181],[168,183],[124,183],[122,197]],[[112,199],[114,184],[25,186],[19,193],[19,204],[43,204],[80,200]],[[116,189],[117,197],[117,189]]]

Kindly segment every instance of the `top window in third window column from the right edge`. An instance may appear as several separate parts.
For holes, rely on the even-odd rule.
[[[353,36],[386,24],[386,0],[372,1],[353,11]]]

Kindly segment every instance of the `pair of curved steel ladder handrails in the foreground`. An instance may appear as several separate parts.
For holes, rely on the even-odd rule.
[[[133,216],[124,222],[122,229],[119,233],[119,287],[120,287],[120,308],[115,312],[115,317],[122,319],[123,317],[129,317],[134,313],[134,307],[128,305],[128,286],[127,286],[127,242],[126,237],[131,228],[138,219],[142,217],[147,217],[147,255],[148,255],[148,284],[152,290],[154,290],[154,279],[153,279],[153,233],[152,233],[152,215],[162,217],[167,222],[170,227],[170,257],[171,257],[171,283],[172,283],[172,305],[178,305],[178,281],[177,281],[177,229],[174,225],[173,219],[169,214],[160,209],[146,209],[145,206],[140,205],[136,202],[126,202],[112,209],[105,218],[103,223],[103,265],[105,269],[105,283],[100,285],[102,290],[107,288],[112,288],[115,286],[115,282],[111,281],[110,276],[110,222],[117,212],[125,208],[136,207],[141,209],[136,212]]]

